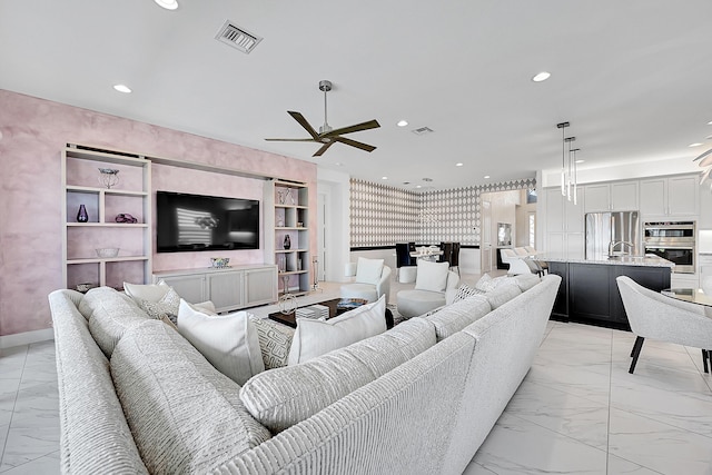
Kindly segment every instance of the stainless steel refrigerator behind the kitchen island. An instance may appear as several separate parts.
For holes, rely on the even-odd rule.
[[[607,257],[611,243],[615,254],[643,255],[637,211],[586,214],[586,259]]]

